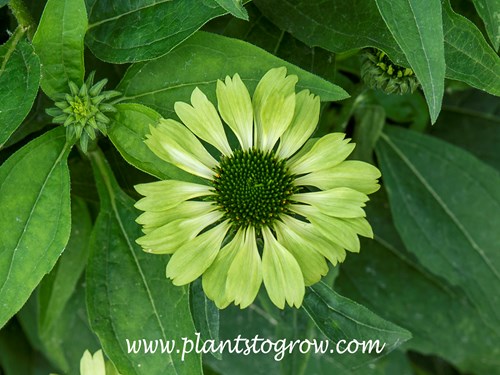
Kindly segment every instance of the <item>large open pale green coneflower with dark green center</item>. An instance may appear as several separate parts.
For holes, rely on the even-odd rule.
[[[175,285],[202,276],[219,308],[250,305],[264,282],[273,303],[299,307],[305,286],[358,252],[358,234],[371,237],[362,207],[378,190],[377,168],[345,161],[354,145],[345,134],[309,141],[320,101],[295,93],[297,77],[271,69],[253,98],[238,74],[217,82],[218,111],[196,88],[191,105],[175,103],[184,124],[162,119],[145,141],[163,160],[207,180],[137,185],[145,211],[137,222],[147,252],[173,254],[167,277]],[[239,147],[229,145],[222,120]],[[214,158],[200,139],[221,154]]]

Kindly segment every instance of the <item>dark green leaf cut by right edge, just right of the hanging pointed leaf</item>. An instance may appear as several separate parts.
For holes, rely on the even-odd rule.
[[[443,4],[446,77],[500,96],[500,57],[478,28]]]

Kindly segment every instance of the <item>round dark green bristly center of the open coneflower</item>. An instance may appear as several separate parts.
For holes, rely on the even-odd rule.
[[[273,151],[236,150],[215,168],[214,200],[236,227],[269,225],[286,211],[294,176]]]

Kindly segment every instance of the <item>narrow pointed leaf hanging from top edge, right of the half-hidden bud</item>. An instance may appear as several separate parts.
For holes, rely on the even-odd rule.
[[[434,123],[441,110],[446,69],[441,1],[376,0],[376,3],[422,85]]]

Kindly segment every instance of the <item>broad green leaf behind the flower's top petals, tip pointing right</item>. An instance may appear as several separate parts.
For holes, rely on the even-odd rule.
[[[196,33],[159,59],[132,65],[117,90],[123,93],[121,100],[139,102],[152,107],[164,117],[172,117],[175,115],[174,103],[189,102],[195,87],[199,87],[215,103],[218,79],[238,73],[249,91],[253,92],[265,72],[279,66],[285,66],[289,74],[299,76],[298,89],[308,88],[322,100],[348,97],[340,87],[258,47],[205,32]]]

